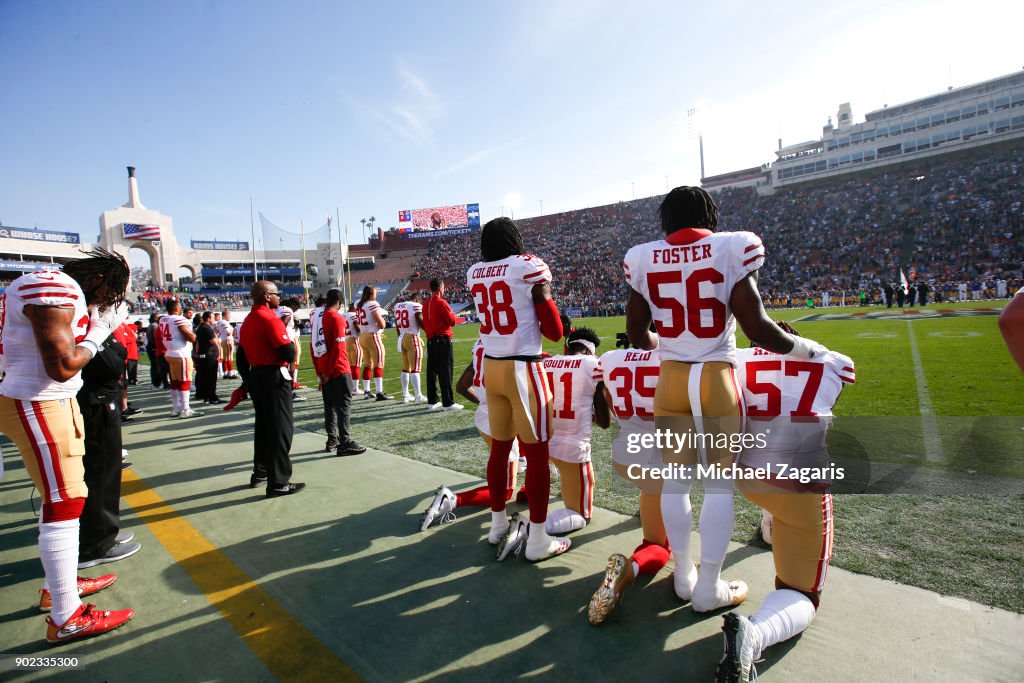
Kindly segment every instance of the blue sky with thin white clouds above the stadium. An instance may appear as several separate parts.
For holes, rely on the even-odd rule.
[[[885,103],[1024,66],[1021,3],[0,0],[0,220],[80,232],[127,199],[179,242],[340,208],[484,220],[665,191]],[[968,8],[970,7],[970,11]]]

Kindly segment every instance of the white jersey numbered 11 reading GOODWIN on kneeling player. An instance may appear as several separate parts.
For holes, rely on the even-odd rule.
[[[584,451],[589,455],[594,394],[602,381],[601,361],[596,355],[553,355],[544,359],[544,372],[554,394],[552,457],[572,460]]]

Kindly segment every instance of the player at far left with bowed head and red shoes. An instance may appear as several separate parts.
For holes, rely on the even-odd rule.
[[[51,607],[46,618],[51,643],[95,636],[135,615],[131,609],[83,605],[80,595],[102,590],[113,580],[76,581],[75,575],[87,495],[84,429],[75,396],[82,369],[121,323],[110,307],[123,299],[128,276],[123,257],[94,249],[68,263],[63,272],[25,274],[4,292],[0,432],[17,446],[42,498],[39,557],[46,592],[40,606]]]

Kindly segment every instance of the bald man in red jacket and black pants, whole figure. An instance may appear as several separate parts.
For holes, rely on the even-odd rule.
[[[273,310],[281,301],[278,286],[261,280],[250,290],[253,307],[239,332],[239,372],[253,399],[253,474],[250,488],[266,483],[266,497],[289,496],[305,488],[292,483],[292,375],[295,345]]]

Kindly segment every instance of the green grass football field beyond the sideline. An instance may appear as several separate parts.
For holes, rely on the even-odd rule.
[[[1002,345],[995,314],[1001,305],[929,306],[924,314],[877,307],[772,313],[854,359],[857,383],[836,407],[834,432],[853,433],[871,460],[885,461],[872,467],[891,493],[836,497],[837,566],[1024,612],[1024,377]],[[599,352],[614,348],[615,334],[625,329],[622,317],[574,324],[600,335]],[[456,330],[457,378],[476,334],[473,325]],[[395,345],[388,330],[385,389],[398,395]],[[559,352],[560,345],[546,343],[546,350]],[[307,358],[302,366],[302,383],[314,387]],[[322,405],[314,393],[307,395],[310,400],[296,403],[296,424],[323,432]],[[471,404],[437,414],[357,398],[352,422],[361,442],[484,477],[486,450]],[[636,514],[637,489],[610,469],[615,429],[595,427],[595,503]],[[942,480],[939,490],[908,484],[922,472]],[[918,493],[900,493],[906,489]],[[424,507],[432,493],[423,492]],[[697,487],[695,507],[699,498]],[[733,539],[756,543],[759,511],[737,495],[736,515]]]

